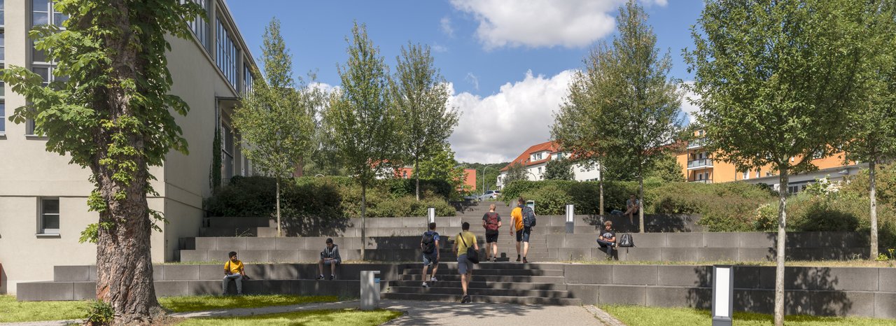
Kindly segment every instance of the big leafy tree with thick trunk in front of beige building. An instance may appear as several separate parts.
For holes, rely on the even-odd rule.
[[[37,26],[29,37],[56,63],[53,73],[68,78],[44,87],[24,67],[5,69],[4,82],[29,99],[11,119],[33,119],[47,151],[90,167],[88,205],[99,222],[82,241],[97,243],[97,298],[115,310],[116,324],[151,322],[163,313],[150,256],[151,232],[159,229],[153,219],[162,217],[147,206],[147,193],[155,193],[149,167],[161,166],[169,150],[187,152],[172,112],[185,116],[189,108],[168,94],[166,38],[191,37],[183,17],[202,8],[175,0],[61,0],[55,9],[69,16],[65,30]]]

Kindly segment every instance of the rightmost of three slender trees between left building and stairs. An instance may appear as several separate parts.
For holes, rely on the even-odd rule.
[[[389,85],[392,100],[401,112],[406,155],[414,162],[414,171],[417,171],[421,159],[439,155],[457,125],[459,115],[448,107],[448,83],[435,68],[428,46],[409,44],[407,48],[401,47],[401,56],[396,57],[396,61],[395,75]],[[414,179],[419,201],[418,173],[414,174]]]

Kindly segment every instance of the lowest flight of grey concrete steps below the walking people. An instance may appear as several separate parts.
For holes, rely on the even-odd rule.
[[[420,265],[406,266],[398,280],[389,282],[388,299],[459,302],[463,295],[457,263],[442,263],[438,281],[422,287]],[[431,272],[430,272],[431,273]],[[519,305],[582,305],[566,288],[564,267],[559,264],[479,263],[472,271],[467,293],[476,303]]]

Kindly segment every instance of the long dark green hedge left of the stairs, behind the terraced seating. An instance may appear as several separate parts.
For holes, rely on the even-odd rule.
[[[377,180],[367,189],[367,217],[425,216],[435,207],[438,216],[453,216],[445,201],[444,182],[420,180],[421,200],[414,195],[413,180]],[[281,183],[281,214],[322,219],[361,216],[361,187],[344,176],[300,177]],[[450,193],[450,192],[449,192]],[[205,201],[210,216],[269,217],[275,213],[276,183],[265,176],[235,176]]]

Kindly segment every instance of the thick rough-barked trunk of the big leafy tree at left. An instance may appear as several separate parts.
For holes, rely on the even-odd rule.
[[[128,4],[124,0],[115,0],[109,5],[120,13],[115,15],[116,21],[110,24],[122,30],[124,35],[133,33]],[[105,46],[114,49],[116,54],[110,57],[110,76],[113,81],[137,80],[146,63],[138,60],[141,49],[131,46],[131,39],[121,38],[122,34],[114,33],[103,40]],[[133,106],[132,90],[117,83],[110,83],[107,87],[108,96],[97,105],[98,109],[108,110],[113,125],[99,129],[94,142],[102,149],[124,145],[142,152],[148,140],[139,132],[122,125],[122,119],[134,116],[134,111],[142,108]],[[142,87],[138,88],[139,93]],[[121,135],[125,137],[124,144],[111,145],[116,142],[115,137]],[[130,160],[134,162],[134,172],[123,171],[115,164],[101,164],[108,159]],[[101,150],[93,155],[90,170],[99,195],[106,202],[105,209],[99,211],[97,298],[112,306],[115,324],[151,323],[164,312],[156,301],[152,284],[152,222],[146,201],[149,189],[147,160],[139,154],[110,154],[109,150]],[[116,174],[133,178],[122,180]],[[119,199],[122,194],[125,198]]]

